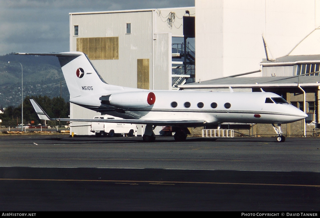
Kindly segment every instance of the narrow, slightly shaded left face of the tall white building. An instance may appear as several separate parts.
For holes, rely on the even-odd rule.
[[[196,0],[195,5],[198,82],[223,76],[223,0]]]

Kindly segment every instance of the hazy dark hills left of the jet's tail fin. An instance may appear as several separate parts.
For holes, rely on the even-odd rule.
[[[8,63],[10,61],[10,63]],[[21,65],[23,68],[23,97],[60,96],[69,100],[69,92],[58,58],[6,54],[0,56],[0,108],[21,104]]]

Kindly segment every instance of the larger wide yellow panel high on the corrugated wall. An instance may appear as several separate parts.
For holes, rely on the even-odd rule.
[[[119,37],[77,38],[77,51],[87,54],[90,60],[117,60]]]

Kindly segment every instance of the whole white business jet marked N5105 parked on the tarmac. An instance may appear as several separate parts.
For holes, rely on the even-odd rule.
[[[183,141],[188,127],[220,126],[221,123],[270,123],[277,141],[284,142],[281,124],[305,119],[308,115],[270,92],[212,92],[143,90],[110,85],[103,81],[82,52],[17,53],[50,55],[59,58],[70,92],[70,102],[124,119],[105,122],[146,124],[143,141],[153,142],[156,126],[172,126],[174,139]],[[40,119],[97,122],[97,119],[50,118],[30,99]],[[277,127],[275,126],[277,125]]]

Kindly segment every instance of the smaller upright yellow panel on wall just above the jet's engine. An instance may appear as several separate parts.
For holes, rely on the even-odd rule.
[[[137,88],[149,88],[149,59],[137,59]]]

